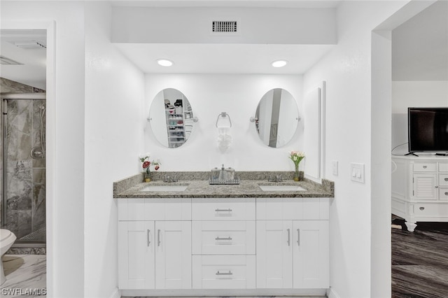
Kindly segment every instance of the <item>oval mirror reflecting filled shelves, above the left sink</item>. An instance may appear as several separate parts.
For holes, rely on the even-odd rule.
[[[155,95],[149,111],[155,139],[163,146],[182,146],[193,130],[193,110],[182,92],[167,88]]]

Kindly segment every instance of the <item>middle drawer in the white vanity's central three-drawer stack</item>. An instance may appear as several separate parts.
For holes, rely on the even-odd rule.
[[[193,255],[255,255],[255,220],[193,221]]]

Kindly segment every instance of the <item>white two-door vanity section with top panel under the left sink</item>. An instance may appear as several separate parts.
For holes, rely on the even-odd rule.
[[[118,283],[191,288],[191,199],[118,200]]]

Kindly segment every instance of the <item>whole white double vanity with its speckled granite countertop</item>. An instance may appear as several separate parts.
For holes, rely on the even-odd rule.
[[[114,183],[122,295],[325,295],[334,184],[290,172],[141,174]],[[173,173],[171,173],[173,176]],[[266,175],[283,177],[269,182]],[[166,179],[165,179],[166,180]],[[276,179],[279,180],[279,179]]]

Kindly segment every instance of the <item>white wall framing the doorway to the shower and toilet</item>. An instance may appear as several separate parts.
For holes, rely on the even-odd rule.
[[[48,69],[46,89],[47,297],[82,297],[84,5],[55,1],[1,1],[0,5],[2,29],[33,29],[26,26],[30,20],[55,22],[55,35],[48,36],[48,44],[55,46],[48,50],[55,53],[49,57],[55,59],[55,68]]]

